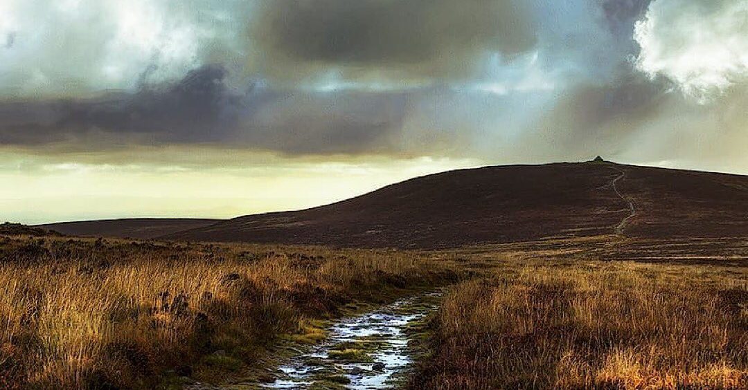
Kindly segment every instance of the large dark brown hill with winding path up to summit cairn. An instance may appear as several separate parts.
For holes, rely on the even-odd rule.
[[[748,176],[610,163],[483,167],[164,238],[444,248],[616,233],[748,237]]]

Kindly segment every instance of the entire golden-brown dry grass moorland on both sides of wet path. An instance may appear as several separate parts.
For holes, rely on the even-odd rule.
[[[587,260],[577,244],[415,253],[0,236],[0,388],[217,383],[268,365],[281,340],[319,340],[319,320],[351,303],[460,279],[411,389],[748,388],[740,261]]]

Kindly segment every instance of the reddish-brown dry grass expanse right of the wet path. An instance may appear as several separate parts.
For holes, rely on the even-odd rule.
[[[747,389],[744,269],[505,264],[447,294],[413,389]]]

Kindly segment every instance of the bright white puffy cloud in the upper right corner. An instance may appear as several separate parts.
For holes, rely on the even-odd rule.
[[[637,22],[637,68],[700,102],[748,81],[748,1],[656,0]]]

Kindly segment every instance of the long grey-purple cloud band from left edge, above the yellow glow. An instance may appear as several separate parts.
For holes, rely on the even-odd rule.
[[[302,154],[393,151],[402,93],[313,93],[229,87],[221,66],[174,84],[96,99],[0,103],[0,144],[106,149],[212,143]]]

